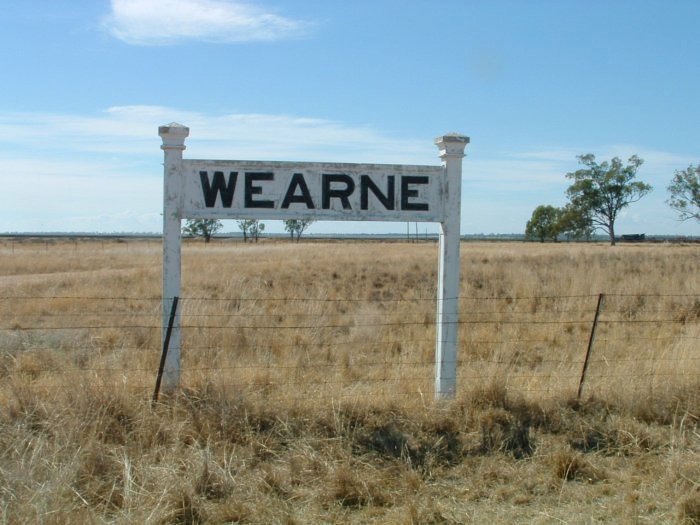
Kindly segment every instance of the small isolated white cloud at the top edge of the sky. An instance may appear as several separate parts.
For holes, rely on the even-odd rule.
[[[282,40],[312,27],[233,0],[112,0],[111,6],[105,28],[133,45]]]

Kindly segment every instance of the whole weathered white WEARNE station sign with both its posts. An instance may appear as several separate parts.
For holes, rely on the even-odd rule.
[[[436,139],[441,166],[183,159],[189,129],[161,126],[163,139],[163,338],[180,296],[181,220],[313,219],[440,223],[435,394],[456,390],[462,158],[469,138]],[[180,379],[176,314],[164,388]]]

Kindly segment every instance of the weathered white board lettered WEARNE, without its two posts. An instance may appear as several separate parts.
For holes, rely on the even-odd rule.
[[[439,222],[447,200],[441,166],[209,160],[185,160],[182,166],[184,215],[192,218],[249,219],[254,214],[264,220]],[[233,190],[232,199],[225,204],[220,191],[212,193],[216,198],[209,203],[205,199],[217,172]],[[203,186],[202,173],[206,173],[208,189]],[[270,180],[248,181],[248,175],[264,175]],[[325,190],[347,192],[347,198],[324,200],[324,178]],[[346,182],[331,182],[334,178]],[[374,189],[367,188],[368,181]],[[257,192],[249,199],[247,187]],[[285,202],[290,195],[294,202]],[[269,208],[251,207],[261,203]]]

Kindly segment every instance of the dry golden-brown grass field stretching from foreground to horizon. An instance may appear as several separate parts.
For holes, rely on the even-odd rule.
[[[700,523],[700,246],[0,239],[3,523]],[[581,399],[593,318],[605,294]]]

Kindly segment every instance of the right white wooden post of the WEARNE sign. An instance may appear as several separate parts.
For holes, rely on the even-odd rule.
[[[469,137],[457,134],[435,139],[445,170],[445,218],[440,223],[440,262],[437,289],[435,397],[453,398],[457,388],[459,331],[459,244],[462,158]]]

